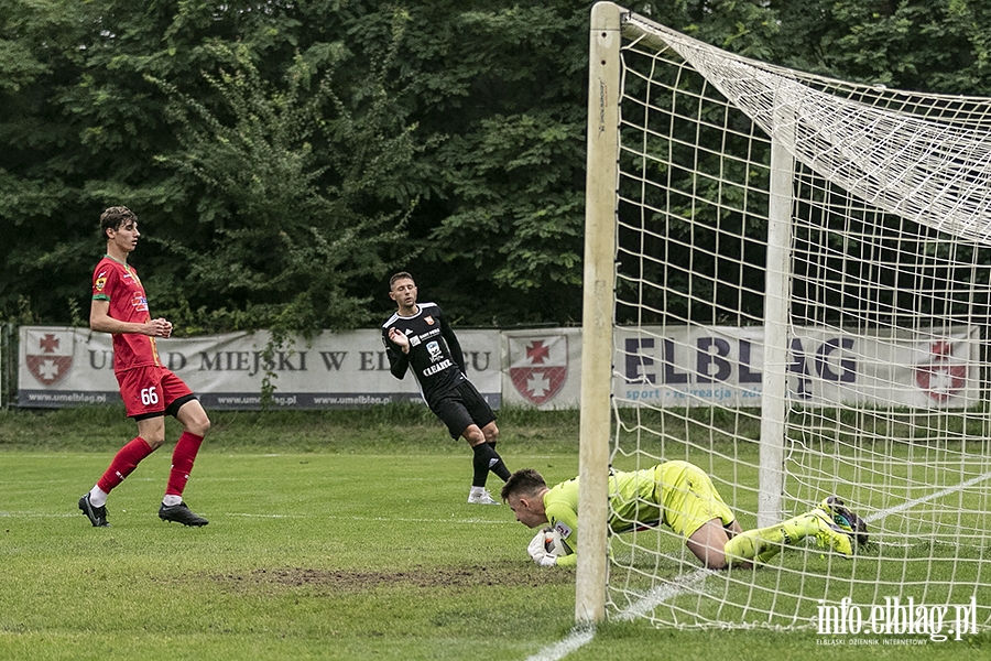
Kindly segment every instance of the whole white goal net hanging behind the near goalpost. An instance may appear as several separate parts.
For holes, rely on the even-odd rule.
[[[663,525],[610,535],[608,617],[926,635],[946,607],[943,635],[958,614],[987,627],[991,100],[808,75],[607,9],[589,131],[616,132],[614,164],[589,195],[605,173],[608,462],[689,460],[744,529],[837,495],[871,540],[707,572]],[[900,630],[910,605],[923,619]]]

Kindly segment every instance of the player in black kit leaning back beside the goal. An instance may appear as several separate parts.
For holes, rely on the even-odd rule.
[[[509,479],[496,452],[496,413],[465,376],[465,356],[440,306],[416,303],[416,283],[405,271],[389,280],[389,297],[398,310],[382,324],[382,342],[392,376],[402,379],[412,367],[423,399],[447,425],[451,438],[462,436],[475,453],[475,478],[468,502],[499,505],[486,489],[491,470]]]

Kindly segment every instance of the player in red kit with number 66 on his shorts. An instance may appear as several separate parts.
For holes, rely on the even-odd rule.
[[[113,335],[113,373],[128,418],[138,423],[138,436],[120,448],[96,486],[79,499],[79,509],[94,527],[110,525],[107,495],[165,442],[168,414],[182,423],[183,434],[172,454],[159,517],[184,525],[206,525],[207,520],[183,502],[183,489],[210,420],[193,391],[159,359],[155,338],[172,335],[172,323],[151,318],[141,280],[128,266],[128,256],[141,236],[138,216],[128,207],[110,207],[100,216],[100,231],[107,239],[107,254],[92,273],[89,327]]]

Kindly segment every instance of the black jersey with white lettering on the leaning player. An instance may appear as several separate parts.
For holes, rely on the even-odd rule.
[[[382,342],[392,376],[402,379],[406,368],[412,367],[423,399],[433,405],[437,398],[467,380],[465,355],[440,306],[417,303],[417,307],[416,314],[410,317],[393,313],[382,324]],[[390,328],[399,328],[410,339],[409,354],[390,342]]]

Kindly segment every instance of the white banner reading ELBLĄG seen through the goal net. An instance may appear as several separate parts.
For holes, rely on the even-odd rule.
[[[795,328],[787,397],[793,404],[868,403],[965,408],[980,400],[980,328],[891,335]],[[759,407],[762,327],[618,328],[619,405]]]

